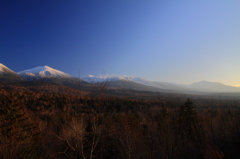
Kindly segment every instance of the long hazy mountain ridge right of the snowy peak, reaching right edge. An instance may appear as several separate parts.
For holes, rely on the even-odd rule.
[[[106,82],[106,81],[112,81],[114,82],[114,85],[110,84],[110,86],[115,86],[115,87],[126,87],[129,88],[130,84],[122,84],[123,82],[135,82],[137,84],[142,84],[148,87],[144,87],[147,90],[152,90],[152,91],[173,91],[173,92],[206,92],[206,93],[215,93],[215,92],[220,92],[220,93],[228,93],[228,92],[240,92],[240,88],[238,87],[233,87],[229,85],[224,85],[220,82],[209,82],[209,81],[199,81],[192,83],[190,85],[183,85],[183,84],[175,84],[175,83],[169,83],[169,82],[158,82],[158,81],[148,81],[143,78],[139,77],[133,77],[133,76],[118,76],[118,75],[112,75],[112,76],[92,76],[89,75],[88,77],[83,78],[84,80],[92,83],[101,83],[101,82]],[[117,82],[118,81],[118,82]],[[154,87],[154,88],[150,88]],[[132,88],[132,87],[131,87]],[[135,88],[137,90],[137,88]],[[142,89],[140,89],[142,90]]]

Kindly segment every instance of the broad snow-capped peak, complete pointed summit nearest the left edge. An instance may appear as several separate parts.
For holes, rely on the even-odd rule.
[[[71,78],[67,73],[53,69],[49,66],[39,66],[32,69],[18,72],[25,80],[34,80],[41,78]]]

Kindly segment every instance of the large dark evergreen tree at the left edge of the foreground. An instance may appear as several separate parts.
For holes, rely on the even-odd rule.
[[[31,158],[36,154],[37,133],[21,103],[19,94],[9,92],[1,96],[0,103],[0,151],[12,158]],[[34,146],[35,145],[35,146]]]

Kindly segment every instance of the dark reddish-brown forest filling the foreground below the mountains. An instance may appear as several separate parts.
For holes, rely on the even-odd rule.
[[[234,99],[0,91],[1,159],[237,159]]]

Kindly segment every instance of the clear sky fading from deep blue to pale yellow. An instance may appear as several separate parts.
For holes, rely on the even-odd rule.
[[[1,0],[0,63],[237,85],[240,1]]]

